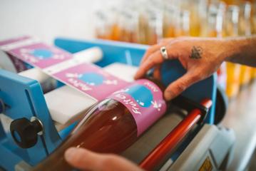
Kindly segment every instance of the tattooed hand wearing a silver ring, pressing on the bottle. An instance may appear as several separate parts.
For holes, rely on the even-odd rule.
[[[193,83],[211,76],[227,57],[227,43],[223,39],[192,37],[165,39],[148,48],[135,79],[142,78],[151,68],[154,68],[153,76],[160,79],[160,66],[164,62],[160,53],[162,46],[167,49],[168,59],[178,59],[187,70],[182,77],[170,83],[165,89],[166,100],[175,98]]]

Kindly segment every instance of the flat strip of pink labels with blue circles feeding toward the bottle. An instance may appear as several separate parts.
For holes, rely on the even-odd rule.
[[[1,50],[40,68],[49,76],[90,95],[91,98],[103,100],[128,85],[126,81],[111,76],[93,63],[73,58],[71,53],[60,48],[34,41],[34,38],[16,40],[0,42]]]

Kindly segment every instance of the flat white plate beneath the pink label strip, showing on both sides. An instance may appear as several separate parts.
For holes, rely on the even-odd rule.
[[[137,67],[128,66],[122,63],[113,63],[103,68],[104,71],[111,73],[113,76],[121,78],[125,81],[132,82]],[[52,90],[44,95],[51,118],[57,123],[66,125],[80,113],[83,113],[91,105],[96,103],[88,95],[69,86],[63,86]]]

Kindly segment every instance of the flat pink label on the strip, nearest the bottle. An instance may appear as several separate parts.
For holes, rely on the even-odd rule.
[[[126,81],[111,76],[102,68],[89,63],[68,68],[53,74],[53,77],[97,100],[103,100],[114,91],[128,85]]]

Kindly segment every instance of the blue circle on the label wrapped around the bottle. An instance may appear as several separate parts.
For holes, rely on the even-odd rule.
[[[138,105],[144,108],[150,107],[151,102],[153,101],[153,94],[145,86],[131,86],[129,90],[126,91],[126,93],[132,96],[133,99],[138,103]]]

